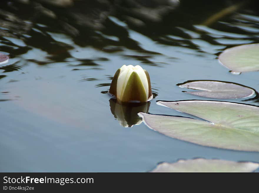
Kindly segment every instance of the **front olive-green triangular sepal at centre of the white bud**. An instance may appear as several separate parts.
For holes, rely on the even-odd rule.
[[[135,71],[129,76],[127,85],[120,100],[123,102],[132,100],[138,100],[140,102],[147,101],[145,88],[139,75]]]

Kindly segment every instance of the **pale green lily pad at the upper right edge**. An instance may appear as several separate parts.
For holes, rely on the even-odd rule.
[[[259,71],[259,43],[226,49],[220,54],[219,61],[236,73]]]

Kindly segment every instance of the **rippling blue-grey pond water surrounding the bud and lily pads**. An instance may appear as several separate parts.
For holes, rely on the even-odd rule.
[[[217,59],[259,43],[256,1],[59,2],[1,1],[0,52],[10,57],[0,68],[1,172],[147,172],[195,157],[259,162],[258,152],[195,145],[137,121],[122,126],[138,109],[194,118],[156,105],[211,100],[182,92],[176,84],[187,80],[259,90],[258,71],[234,75]],[[146,69],[157,95],[135,111],[114,109],[106,93],[123,64]],[[259,105],[255,95],[224,101]]]

